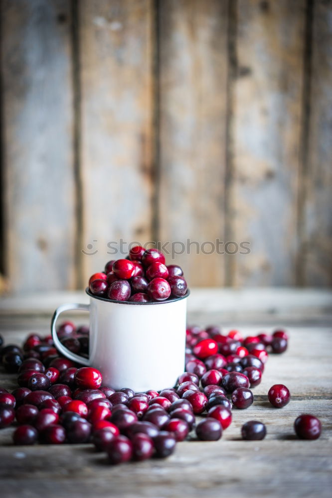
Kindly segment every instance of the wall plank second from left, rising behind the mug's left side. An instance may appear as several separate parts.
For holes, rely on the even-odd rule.
[[[107,243],[151,240],[153,4],[79,2],[85,281]],[[92,250],[86,246],[91,244]]]

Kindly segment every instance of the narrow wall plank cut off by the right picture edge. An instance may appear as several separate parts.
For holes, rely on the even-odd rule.
[[[332,1],[314,3],[301,283],[332,285]]]

